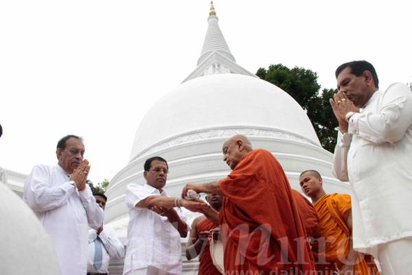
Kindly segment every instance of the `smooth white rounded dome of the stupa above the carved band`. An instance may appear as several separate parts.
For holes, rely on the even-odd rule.
[[[152,106],[130,160],[181,135],[227,126],[277,131],[320,146],[305,111],[279,87],[252,76],[211,74],[182,83]]]

